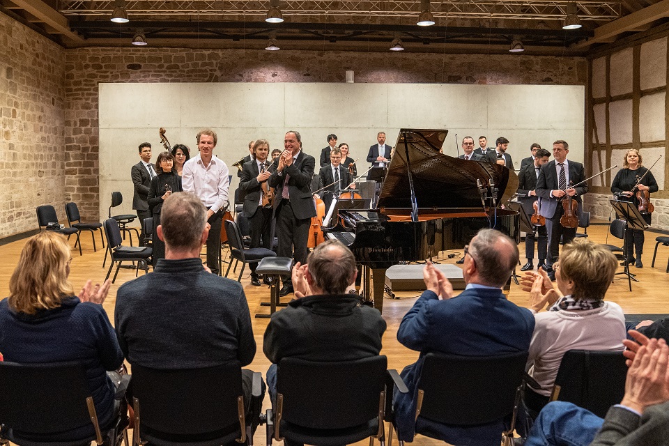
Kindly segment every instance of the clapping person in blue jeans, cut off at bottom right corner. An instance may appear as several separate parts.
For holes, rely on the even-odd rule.
[[[630,330],[641,345],[629,349],[625,395],[601,419],[571,403],[548,403],[530,430],[525,446],[659,446],[669,444],[669,347]]]

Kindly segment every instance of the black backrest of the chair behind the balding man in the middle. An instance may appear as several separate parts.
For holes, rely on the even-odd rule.
[[[311,362],[284,357],[277,368],[282,420],[309,429],[346,429],[378,417],[387,358]]]

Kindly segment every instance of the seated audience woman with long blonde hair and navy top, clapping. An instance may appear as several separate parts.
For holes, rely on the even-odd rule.
[[[112,282],[91,281],[75,295],[65,236],[45,231],[28,239],[0,301],[0,351],[19,363],[81,362],[86,369],[102,429],[114,419],[115,386],[123,353],[102,302]],[[57,407],[54,407],[57,410]],[[58,438],[66,442],[93,434],[93,425]]]

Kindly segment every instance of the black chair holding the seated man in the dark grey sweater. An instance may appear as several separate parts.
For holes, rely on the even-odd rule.
[[[159,370],[132,364],[133,445],[253,444],[261,422],[261,376],[244,405],[239,362],[204,369]]]

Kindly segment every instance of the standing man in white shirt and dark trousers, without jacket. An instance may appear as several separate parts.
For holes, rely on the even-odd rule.
[[[228,167],[214,155],[217,141],[218,136],[213,130],[200,130],[197,134],[200,153],[183,164],[181,177],[184,192],[194,193],[207,208],[207,222],[211,226],[207,237],[207,266],[214,274],[219,273],[221,226],[230,188]]]

